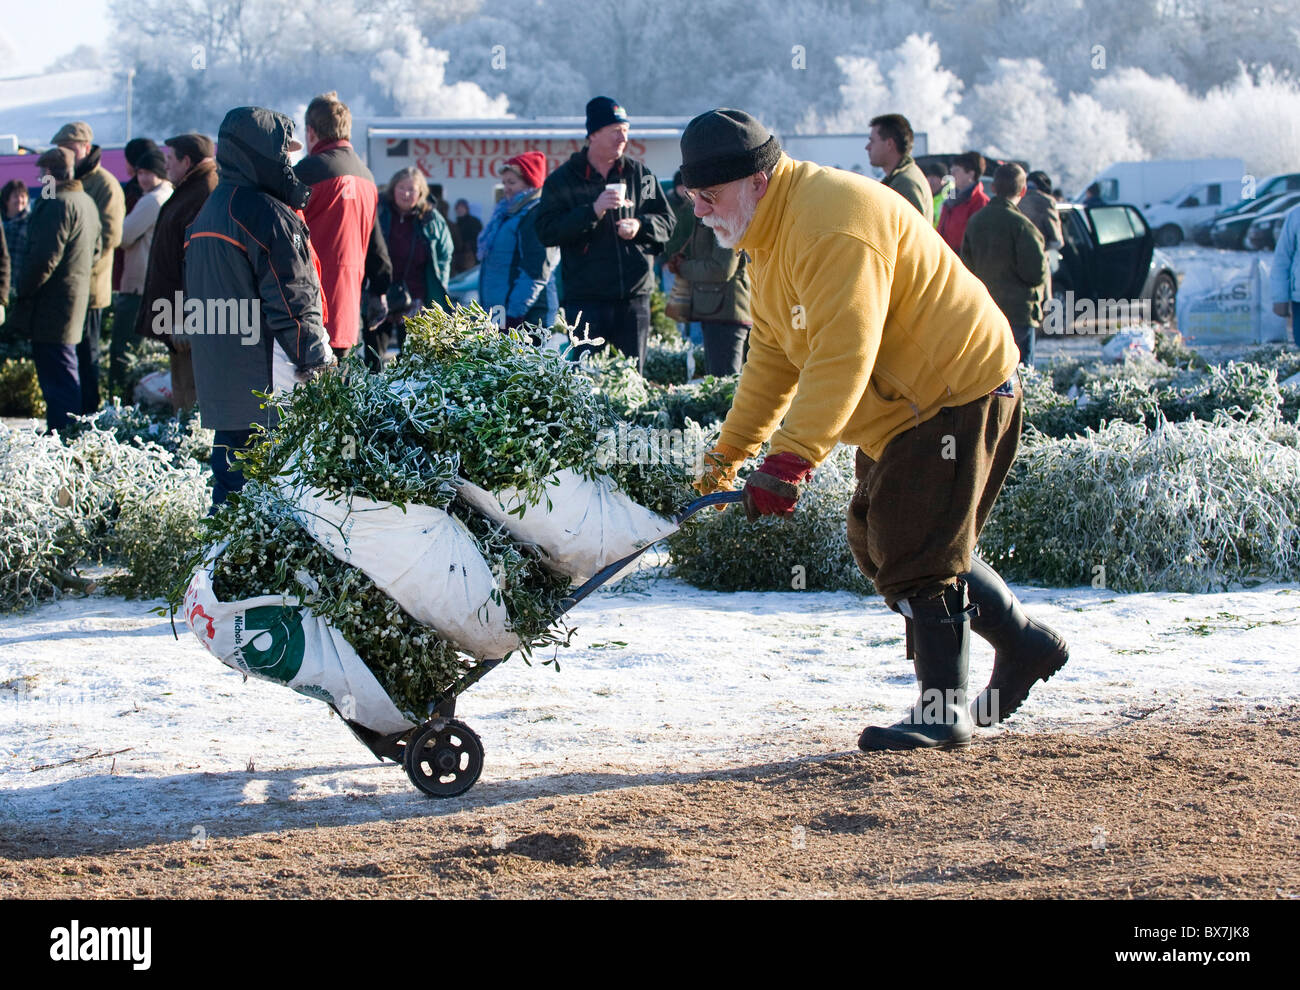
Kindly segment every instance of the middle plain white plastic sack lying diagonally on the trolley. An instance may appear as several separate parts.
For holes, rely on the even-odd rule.
[[[491,568],[459,520],[432,505],[403,511],[306,486],[283,485],[281,494],[312,539],[458,650],[498,660],[521,646]]]

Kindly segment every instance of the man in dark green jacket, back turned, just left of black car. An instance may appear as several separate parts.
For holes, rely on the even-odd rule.
[[[1024,194],[1024,169],[998,165],[993,199],[966,225],[962,261],[988,287],[1011,325],[1020,364],[1034,365],[1034,335],[1043,324],[1048,256],[1043,235],[1015,201]]]

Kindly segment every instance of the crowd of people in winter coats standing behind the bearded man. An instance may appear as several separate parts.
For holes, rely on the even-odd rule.
[[[382,369],[390,351],[400,349],[406,317],[425,305],[448,308],[451,278],[476,265],[480,301],[499,326],[549,326],[563,312],[580,327],[578,352],[612,344],[641,369],[650,295],[660,287],[682,335],[703,346],[707,372],[740,373],[753,329],[751,260],[697,216],[699,194],[680,171],[666,194],[646,165],[625,156],[629,126],[616,100],[593,99],[586,144],[550,174],[541,152],[507,161],[485,223],[463,199],[452,216],[442,188],[430,187],[417,168],[400,169],[380,187],[351,144],[351,113],[334,92],[308,104],[306,147],[289,118],[240,108],[222,122],[216,143],[196,133],[161,146],[130,140],[130,178],[122,184],[103,166],[90,126],[65,125],[38,159],[49,192],[32,203],[21,181],[0,190],[0,301],[10,305],[9,333],[27,331],[32,340],[48,427],[100,408],[99,348],[109,307],[109,387],[122,388],[142,338],[161,340],[174,408],[198,404],[208,425],[221,424],[214,429],[229,440],[222,448],[233,452],[265,416],[254,409],[243,418],[250,390],[283,385],[354,349],[370,370]],[[946,170],[933,161],[919,168],[911,126],[900,114],[872,120],[866,149],[884,171],[884,186],[922,213],[988,286],[1020,360],[1032,364],[1034,331],[1050,295],[1048,257],[1061,244],[1048,177],[1002,165],[991,199],[978,152],[956,156]],[[291,165],[296,151],[306,156]],[[254,278],[240,291],[220,251],[218,270],[204,278],[200,262],[214,248],[194,240],[221,226],[211,208],[200,217],[221,186],[247,190],[231,199],[239,205],[251,195],[277,204],[265,238],[239,223],[234,234],[216,234],[237,243],[251,266]],[[292,246],[283,257],[277,239]],[[240,292],[261,305],[265,340],[257,347],[231,327],[202,326],[198,313],[221,307],[185,312],[188,300]],[[0,320],[4,312],[0,307]],[[292,344],[270,346],[290,329]],[[328,355],[306,346],[313,335],[324,338]],[[220,412],[226,407],[237,411],[234,418]],[[237,486],[237,476],[226,477],[229,464],[214,461],[214,472]],[[228,490],[218,486],[217,503]]]

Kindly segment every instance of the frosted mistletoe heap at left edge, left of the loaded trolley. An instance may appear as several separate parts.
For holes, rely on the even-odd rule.
[[[207,470],[157,444],[0,427],[0,611],[87,590],[91,564],[112,568],[116,594],[164,594],[209,498]]]

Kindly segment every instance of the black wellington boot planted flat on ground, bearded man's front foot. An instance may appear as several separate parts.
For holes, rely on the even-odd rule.
[[[971,717],[966,708],[970,666],[970,613],[966,585],[939,598],[913,598],[898,608],[910,611],[913,668],[920,698],[902,718],[888,728],[868,725],[858,738],[864,752],[880,750],[965,750],[971,743]]]

